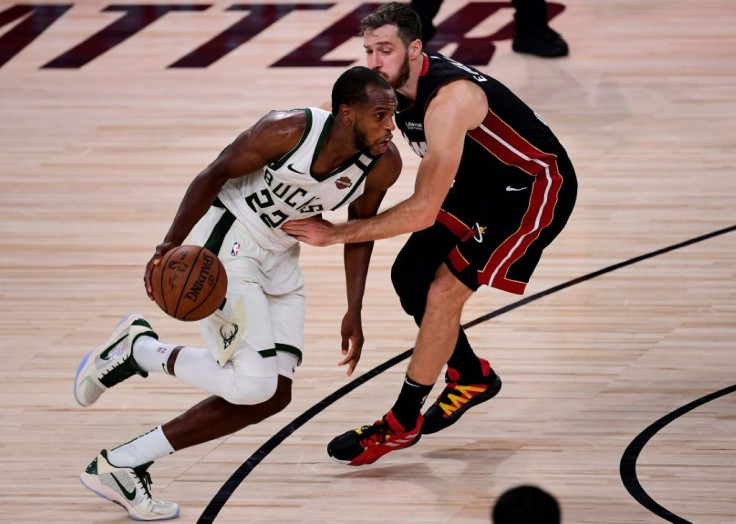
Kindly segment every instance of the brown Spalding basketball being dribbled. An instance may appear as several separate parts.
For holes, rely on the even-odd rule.
[[[225,301],[227,274],[217,256],[200,246],[179,246],[153,268],[151,288],[156,304],[178,320],[202,320]]]

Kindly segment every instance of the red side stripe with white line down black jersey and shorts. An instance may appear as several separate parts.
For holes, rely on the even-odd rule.
[[[481,284],[522,294],[526,283],[509,280],[506,275],[511,265],[524,255],[529,245],[552,222],[562,186],[557,157],[534,147],[490,109],[481,125],[469,131],[468,136],[500,161],[535,177],[529,207],[519,229],[496,248],[486,266],[478,272]]]

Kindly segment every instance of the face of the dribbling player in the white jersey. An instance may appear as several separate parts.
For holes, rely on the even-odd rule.
[[[361,151],[372,156],[388,150],[393,138],[396,95],[393,90],[368,88],[368,103],[357,108],[353,122],[353,141]]]

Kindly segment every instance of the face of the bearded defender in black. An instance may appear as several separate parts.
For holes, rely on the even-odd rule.
[[[363,34],[368,67],[385,78],[394,89],[409,80],[409,51],[401,41],[395,25],[384,25]]]

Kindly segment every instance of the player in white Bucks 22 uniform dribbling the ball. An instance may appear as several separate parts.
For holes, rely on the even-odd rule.
[[[348,204],[350,217],[376,214],[401,171],[391,143],[396,104],[378,74],[352,68],[333,86],[331,113],[270,112],[194,178],[144,280],[152,298],[153,267],[187,237],[218,254],[228,289],[224,306],[200,322],[207,349],[160,342],[145,318],[128,315],[82,360],[74,393],[87,407],[132,375],[163,371],[212,396],[102,450],[81,474],[87,488],[134,519],[175,518],[178,504],[151,496],[151,463],[258,423],[289,404],[302,358],[304,286],[299,245],[280,226]],[[372,242],[345,246],[348,311],[340,364],[348,375],[363,345],[360,309],[372,248]]]

